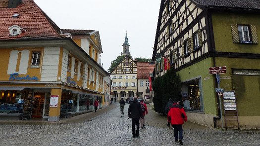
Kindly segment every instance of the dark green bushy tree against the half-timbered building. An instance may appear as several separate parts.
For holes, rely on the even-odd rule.
[[[169,99],[181,100],[181,79],[173,68],[170,68],[164,75],[157,77],[153,82],[154,107],[159,113],[164,112],[164,108]]]

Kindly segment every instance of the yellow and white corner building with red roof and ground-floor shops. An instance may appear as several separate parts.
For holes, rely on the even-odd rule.
[[[33,0],[2,2],[0,16],[0,119],[59,121],[95,99],[103,107],[98,31],[60,30]]]

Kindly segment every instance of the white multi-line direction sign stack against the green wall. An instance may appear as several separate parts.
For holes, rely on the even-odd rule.
[[[225,110],[237,110],[235,91],[223,92]]]

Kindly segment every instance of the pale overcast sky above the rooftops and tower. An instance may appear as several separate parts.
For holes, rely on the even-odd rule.
[[[133,58],[152,58],[160,0],[34,0],[60,29],[100,33],[104,69],[121,55],[126,36]]]

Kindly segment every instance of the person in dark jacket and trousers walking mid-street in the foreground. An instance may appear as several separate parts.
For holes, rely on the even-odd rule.
[[[132,118],[132,134],[133,138],[139,137],[139,120],[142,117],[141,104],[137,101],[137,97],[134,97],[134,100],[128,107],[128,117]],[[136,129],[135,129],[136,125]]]

